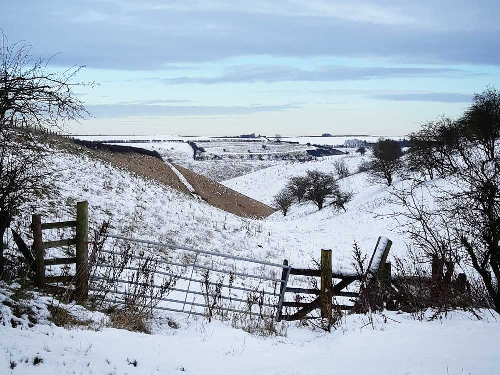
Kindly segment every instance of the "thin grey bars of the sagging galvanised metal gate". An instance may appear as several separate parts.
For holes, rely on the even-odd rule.
[[[195,249],[195,248],[190,248],[190,247],[185,247],[185,246],[177,246],[177,245],[172,245],[172,244],[169,244],[169,243],[149,241],[149,240],[139,239],[139,238],[128,238],[128,237],[124,237],[124,236],[121,236],[121,235],[110,234],[110,235],[108,235],[108,237],[109,238],[114,238],[114,239],[119,239],[119,240],[124,240],[124,241],[129,241],[129,242],[142,243],[142,244],[147,244],[147,245],[152,245],[152,246],[169,248],[169,249],[173,249],[173,250],[190,251],[190,252],[193,252],[193,253],[196,254],[196,259],[197,259],[197,256],[199,254],[203,254],[203,255],[208,255],[208,256],[218,256],[218,257],[222,257],[222,258],[226,258],[226,259],[233,259],[233,260],[237,260],[237,261],[241,261],[241,262],[248,262],[248,263],[260,264],[260,265],[263,265],[263,266],[266,266],[266,267],[280,268],[280,269],[283,270],[283,272],[282,272],[283,276],[281,277],[281,279],[274,278],[274,277],[263,276],[263,275],[250,274],[250,273],[232,272],[232,271],[229,271],[229,270],[226,270],[226,269],[218,269],[218,268],[208,267],[208,266],[204,266],[204,265],[199,265],[199,264],[196,263],[196,261],[194,261],[192,264],[191,263],[182,264],[182,263],[167,261],[167,260],[163,260],[163,259],[157,259],[157,258],[153,259],[157,264],[173,265],[173,266],[182,267],[182,268],[192,268],[192,273],[191,273],[190,277],[179,276],[179,275],[176,275],[174,273],[168,272],[168,270],[162,269],[162,268],[160,268],[161,270],[156,270],[155,273],[157,273],[159,275],[172,276],[172,277],[177,277],[178,279],[181,279],[181,280],[189,281],[187,289],[181,289],[181,288],[172,288],[171,289],[171,291],[177,291],[177,292],[185,293],[185,298],[183,300],[177,300],[177,299],[172,299],[172,298],[157,298],[156,300],[165,301],[165,302],[172,302],[172,303],[182,303],[184,306],[185,305],[191,305],[191,306],[197,306],[197,307],[208,307],[206,304],[187,301],[187,296],[189,294],[203,295],[203,296],[205,295],[205,293],[203,293],[203,292],[195,291],[195,290],[190,290],[191,282],[197,283],[197,284],[203,284],[204,283],[204,281],[202,281],[202,280],[193,278],[193,274],[194,274],[194,270],[195,269],[203,269],[203,270],[212,271],[212,272],[216,272],[216,273],[229,274],[229,275],[234,275],[234,276],[239,276],[239,277],[256,279],[256,280],[259,280],[259,282],[261,282],[261,281],[271,281],[271,282],[279,283],[279,285],[280,285],[279,293],[276,293],[276,292],[273,292],[273,291],[252,289],[252,288],[247,288],[247,287],[242,287],[242,286],[227,285],[227,284],[224,284],[224,283],[220,283],[219,285],[221,287],[223,287],[223,288],[230,288],[230,289],[233,289],[233,290],[239,290],[239,291],[243,291],[243,292],[247,292],[247,293],[259,293],[259,294],[262,294],[262,295],[275,296],[275,297],[279,298],[278,302],[276,304],[261,303],[262,306],[275,307],[276,308],[277,313],[275,315],[273,315],[273,316],[271,316],[271,315],[263,315],[261,313],[254,313],[252,311],[241,311],[241,310],[237,310],[237,309],[233,309],[233,308],[225,307],[225,306],[224,306],[224,308],[222,308],[224,311],[244,312],[244,313],[248,313],[250,315],[257,315],[257,316],[262,316],[262,317],[274,318],[276,321],[280,320],[280,311],[282,309],[282,305],[283,305],[283,301],[284,301],[284,295],[285,295],[285,292],[286,292],[286,285],[287,285],[287,282],[288,282],[288,277],[289,277],[289,274],[291,272],[291,266],[288,265],[287,261],[285,261],[284,264],[277,264],[277,263],[271,263],[271,262],[266,262],[266,261],[262,261],[262,260],[245,258],[245,257],[242,257],[242,256],[222,254],[222,253],[219,253],[219,252],[200,250],[200,249]],[[101,252],[109,253],[109,254],[113,254],[113,255],[120,255],[121,254],[119,252],[108,251],[108,250],[101,250]],[[153,254],[153,253],[151,253],[151,254]],[[157,255],[157,254],[155,254],[155,255]],[[133,254],[129,254],[128,256],[130,258],[133,258],[133,259],[143,259],[143,257],[137,256],[137,255],[133,255]],[[103,267],[103,268],[118,268],[117,266],[115,266],[113,264],[97,263],[95,265]],[[132,271],[138,271],[139,270],[138,267],[133,267],[133,266],[122,267],[122,269],[124,269],[124,270],[132,270]],[[106,281],[106,279],[104,277],[99,277],[99,276],[93,276],[92,279]],[[130,281],[123,280],[123,279],[113,280],[113,282],[115,282],[115,283],[128,283],[128,284],[131,284]],[[150,286],[153,287],[153,288],[160,288],[161,287],[159,285],[150,285]],[[92,291],[99,291],[99,289],[95,289],[95,288],[92,288],[92,287],[90,287],[90,290],[92,290]],[[121,291],[117,291],[117,290],[115,290],[115,291],[113,291],[111,293],[120,294],[120,295],[126,295],[127,294],[125,292],[121,292]],[[221,298],[224,299],[224,300],[230,300],[230,301],[234,301],[234,302],[243,302],[243,303],[247,302],[244,299],[233,297],[233,296],[230,296],[230,297],[221,296]],[[103,300],[106,301],[106,302],[112,302],[112,303],[124,303],[123,301],[120,301],[120,300],[111,300],[111,299],[107,299],[107,298],[105,298]],[[196,311],[184,311],[184,308],[182,308],[182,310],[176,309],[176,308],[170,308],[170,307],[162,307],[162,306],[155,306],[154,308],[157,308],[159,310],[173,311],[173,312],[189,312],[191,314],[204,315],[204,314],[196,312]]]

